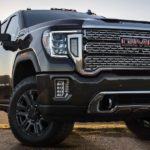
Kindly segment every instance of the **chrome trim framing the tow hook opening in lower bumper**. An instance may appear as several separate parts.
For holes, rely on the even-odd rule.
[[[88,106],[88,113],[114,113],[116,111],[120,111],[120,110],[126,110],[126,109],[150,109],[150,105],[116,105],[115,107],[113,107],[111,110],[108,111],[101,111],[99,110],[99,103],[103,100],[105,95],[117,95],[117,94],[150,94],[150,91],[110,91],[110,92],[100,92],[98,93],[93,100],[90,102],[89,106]]]

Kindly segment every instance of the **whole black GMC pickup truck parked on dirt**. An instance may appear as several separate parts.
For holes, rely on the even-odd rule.
[[[0,109],[22,143],[56,145],[76,121],[150,138],[150,23],[22,10],[1,24]]]

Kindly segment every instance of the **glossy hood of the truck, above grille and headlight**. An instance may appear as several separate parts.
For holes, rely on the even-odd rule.
[[[150,22],[109,18],[55,20],[32,26],[29,29],[31,31],[35,28],[37,29],[46,26],[49,27],[50,30],[71,30],[82,28],[150,30]]]

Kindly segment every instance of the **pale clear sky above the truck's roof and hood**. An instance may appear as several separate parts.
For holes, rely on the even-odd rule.
[[[0,20],[21,9],[91,9],[108,18],[150,21],[150,0],[0,0]]]

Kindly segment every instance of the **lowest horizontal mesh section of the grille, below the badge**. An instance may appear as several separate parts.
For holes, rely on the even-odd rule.
[[[150,68],[150,57],[88,56],[84,62],[85,71],[95,71],[98,68]]]

